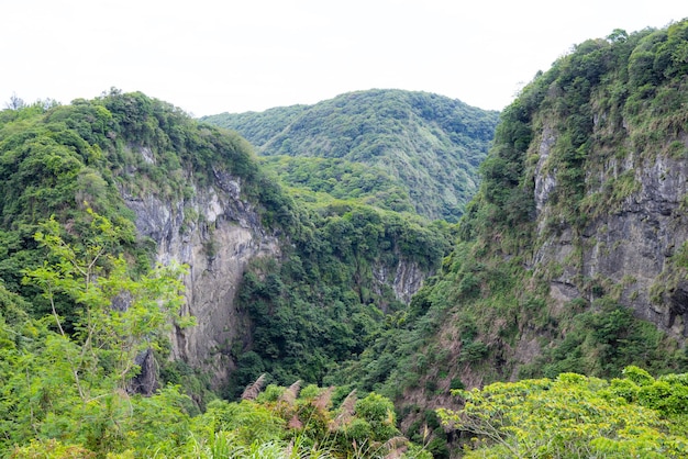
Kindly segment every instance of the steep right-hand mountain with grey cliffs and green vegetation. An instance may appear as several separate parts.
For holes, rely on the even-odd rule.
[[[496,380],[686,371],[687,46],[688,21],[614,31],[529,83],[442,272],[332,381],[418,418]]]

